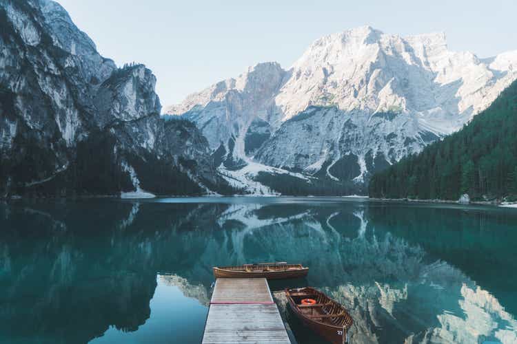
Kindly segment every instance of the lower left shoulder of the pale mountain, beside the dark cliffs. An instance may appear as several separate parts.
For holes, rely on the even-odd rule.
[[[226,151],[232,151],[228,149],[228,141],[235,140],[234,155],[244,158],[244,140],[248,130],[253,130],[252,123],[269,123],[275,116],[273,97],[285,75],[278,63],[261,63],[250,67],[238,78],[193,94],[183,104],[168,109],[168,113],[184,114],[185,118],[196,122],[212,149],[222,144]]]

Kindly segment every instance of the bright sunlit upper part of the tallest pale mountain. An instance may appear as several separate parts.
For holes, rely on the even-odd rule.
[[[506,54],[497,61],[507,70],[517,58]],[[475,54],[447,50],[443,32],[401,37],[369,26],[318,39],[291,72],[276,98],[283,120],[309,105],[336,105],[347,111],[403,105],[405,111],[421,112],[440,107],[444,113],[469,118],[487,107],[513,78],[492,87],[500,76],[494,76]],[[471,80],[465,83],[465,79]],[[463,101],[452,100],[451,89],[443,87],[454,82],[463,84],[456,89]],[[495,92],[480,92],[482,100],[475,93],[484,87]]]

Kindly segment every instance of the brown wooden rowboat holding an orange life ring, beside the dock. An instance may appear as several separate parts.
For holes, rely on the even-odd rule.
[[[286,289],[285,296],[303,325],[330,343],[348,343],[353,321],[343,305],[314,288]]]

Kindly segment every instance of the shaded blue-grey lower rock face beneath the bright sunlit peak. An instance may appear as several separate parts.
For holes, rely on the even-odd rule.
[[[312,106],[284,122],[255,158],[336,181],[365,182],[370,171],[418,152],[436,138],[418,131],[417,120],[402,114],[368,116],[362,110]]]

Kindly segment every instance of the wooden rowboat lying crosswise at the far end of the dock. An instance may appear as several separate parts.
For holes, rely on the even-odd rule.
[[[265,277],[267,279],[292,279],[303,277],[309,272],[309,268],[305,268],[301,264],[281,263],[262,263],[262,264],[244,264],[241,266],[223,266],[215,267],[214,276],[220,278],[253,278]]]

